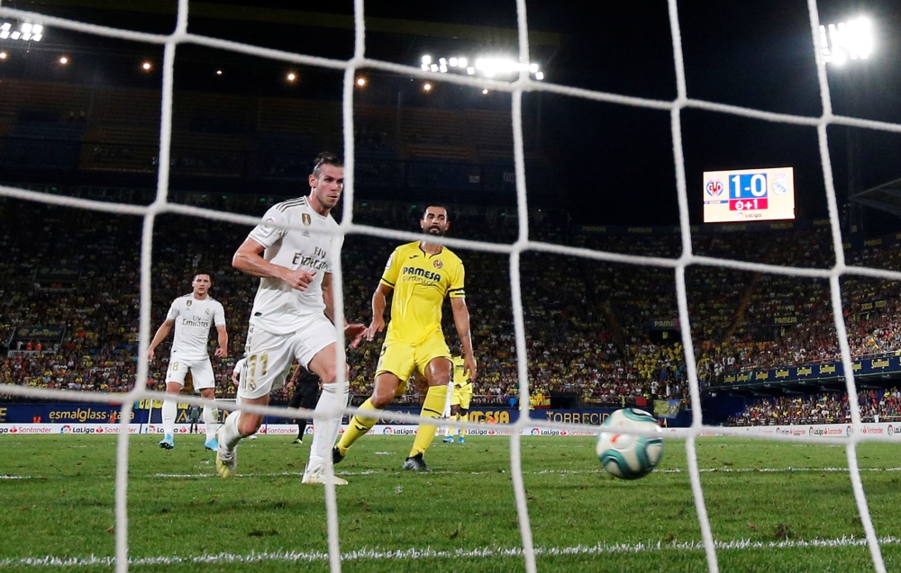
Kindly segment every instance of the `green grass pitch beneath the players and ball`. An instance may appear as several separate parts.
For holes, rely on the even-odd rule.
[[[135,571],[327,571],[323,488],[303,486],[309,453],[287,436],[239,448],[238,477],[215,476],[203,436],[132,436],[129,545]],[[432,473],[400,470],[412,436],[366,436],[336,469],[342,569],[524,570],[509,440],[436,440]],[[871,571],[839,446],[703,438],[702,485],[722,571]],[[0,567],[112,570],[115,437],[0,440]],[[859,447],[889,570],[901,569],[901,450]],[[538,568],[703,571],[684,443],[637,481],[608,476],[591,438],[523,437]]]

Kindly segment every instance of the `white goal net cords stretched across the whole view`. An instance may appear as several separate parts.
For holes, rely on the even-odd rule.
[[[678,96],[674,101],[658,101],[637,97],[624,96],[619,94],[608,94],[603,92],[594,92],[585,89],[567,87],[563,85],[553,85],[544,82],[535,82],[529,77],[527,71],[523,71],[518,80],[507,83],[488,79],[477,79],[467,76],[442,75],[435,78],[427,72],[423,72],[418,67],[407,67],[393,64],[385,61],[379,61],[366,58],[365,56],[365,26],[363,18],[364,1],[354,1],[354,55],[350,60],[335,60],[328,58],[316,58],[305,56],[302,54],[290,53],[277,49],[264,49],[238,42],[228,40],[218,40],[205,36],[199,36],[187,31],[188,19],[188,0],[179,0],[177,11],[177,25],[172,34],[159,35],[142,33],[136,31],[119,30],[105,26],[94,24],[86,24],[82,22],[73,22],[57,17],[47,16],[39,13],[25,12],[11,8],[0,7],[0,15],[22,20],[40,19],[45,25],[51,25],[58,28],[68,29],[72,31],[81,31],[90,34],[96,34],[109,38],[118,38],[123,40],[134,40],[140,42],[148,42],[152,44],[163,45],[164,64],[163,64],[163,83],[162,83],[162,113],[159,130],[159,174],[157,184],[156,200],[146,207],[136,207],[130,204],[106,203],[99,201],[87,201],[82,199],[65,198],[59,196],[48,196],[40,192],[30,192],[22,189],[0,186],[0,195],[21,199],[25,201],[41,201],[45,203],[75,207],[86,210],[105,211],[118,214],[132,214],[143,217],[143,233],[141,244],[141,313],[140,313],[140,329],[139,336],[141,340],[141,349],[138,360],[137,381],[134,389],[128,394],[102,394],[88,392],[74,392],[63,390],[48,389],[31,389],[18,386],[4,386],[3,390],[7,394],[33,396],[35,398],[63,398],[74,401],[92,401],[98,398],[107,402],[121,403],[122,414],[120,420],[123,431],[119,434],[117,449],[117,467],[116,467],[116,494],[115,494],[115,517],[116,517],[116,554],[115,563],[117,571],[127,571],[128,569],[128,512],[127,512],[127,486],[128,486],[128,454],[129,439],[127,431],[129,413],[132,404],[141,398],[161,399],[165,395],[159,392],[150,392],[146,389],[147,381],[147,341],[150,340],[150,255],[152,248],[152,231],[155,218],[163,213],[176,213],[189,215],[194,217],[202,217],[207,219],[218,219],[230,221],[234,223],[255,225],[258,219],[253,217],[245,217],[234,215],[216,210],[205,210],[185,205],[178,205],[168,202],[168,181],[169,181],[169,152],[171,148],[172,135],[172,86],[173,86],[173,68],[175,63],[175,52],[179,44],[191,43],[202,45],[209,48],[225,49],[234,52],[241,52],[261,58],[271,58],[285,62],[294,62],[313,67],[326,67],[338,70],[344,70],[344,90],[343,90],[343,134],[344,134],[344,157],[346,164],[346,181],[345,181],[345,201],[344,212],[341,222],[341,231],[344,234],[364,234],[373,237],[385,237],[392,239],[416,240],[418,235],[399,231],[391,231],[382,228],[372,228],[369,226],[357,225],[352,219],[352,205],[354,192],[354,139],[353,139],[353,80],[355,71],[361,67],[368,67],[383,70],[391,73],[404,74],[408,76],[428,76],[430,79],[443,82],[449,82],[458,85],[469,85],[479,88],[487,88],[490,90],[507,92],[512,94],[513,102],[513,134],[514,134],[514,163],[515,163],[515,182],[517,208],[519,213],[519,235],[518,239],[512,245],[498,245],[481,243],[477,241],[446,239],[441,242],[449,246],[461,246],[468,249],[504,253],[510,256],[510,280],[511,292],[513,298],[514,310],[514,331],[515,331],[515,349],[519,377],[519,405],[521,416],[513,425],[513,434],[511,437],[511,468],[513,470],[513,485],[516,499],[516,508],[519,516],[520,531],[522,533],[523,551],[522,556],[525,560],[525,568],[529,573],[536,571],[535,555],[536,551],[532,544],[532,528],[529,522],[528,506],[526,505],[526,496],[523,487],[523,471],[521,466],[521,443],[520,432],[524,426],[541,425],[544,427],[571,427],[566,425],[552,425],[549,423],[537,422],[528,416],[529,409],[529,391],[527,385],[527,353],[525,343],[525,328],[523,322],[523,299],[520,285],[520,255],[526,251],[536,251],[545,253],[555,253],[559,255],[572,255],[586,257],[589,259],[636,264],[636,265],[655,265],[669,267],[675,269],[676,287],[678,298],[678,318],[682,334],[682,343],[685,348],[685,358],[687,362],[688,381],[690,389],[690,400],[692,404],[692,425],[689,428],[679,430],[673,433],[675,437],[684,437],[687,439],[687,460],[688,470],[691,480],[691,487],[694,494],[696,512],[698,522],[701,526],[703,537],[703,546],[705,550],[708,569],[710,571],[718,571],[716,550],[714,539],[710,529],[710,523],[707,518],[703,489],[701,488],[700,473],[698,471],[696,456],[696,437],[698,434],[733,434],[728,428],[704,426],[701,422],[700,392],[696,375],[696,363],[694,345],[690,335],[690,321],[688,317],[687,292],[685,282],[685,269],[687,265],[708,265],[722,266],[736,270],[761,272],[761,273],[777,273],[784,275],[792,275],[799,277],[819,277],[828,278],[833,304],[833,318],[835,322],[836,333],[838,335],[839,344],[842,353],[842,364],[845,372],[846,389],[848,393],[849,406],[851,410],[852,425],[855,428],[853,434],[845,438],[817,438],[817,443],[838,443],[847,447],[847,457],[849,470],[851,475],[851,483],[853,486],[854,496],[860,511],[860,519],[866,533],[866,542],[869,546],[870,555],[872,557],[875,568],[879,572],[885,571],[885,565],[882,560],[879,542],[870,519],[867,499],[864,495],[860,481],[860,470],[857,463],[856,446],[863,440],[879,439],[877,436],[862,434],[860,431],[860,410],[858,407],[857,391],[853,377],[853,369],[851,368],[851,352],[845,332],[845,325],[842,319],[842,300],[839,279],[842,274],[859,274],[871,277],[881,277],[893,280],[901,279],[901,273],[893,273],[889,271],[880,271],[869,268],[850,267],[844,263],[844,255],[842,252],[842,237],[839,228],[838,210],[836,207],[835,190],[833,186],[832,166],[829,157],[829,149],[827,145],[826,128],[831,124],[845,125],[850,127],[867,128],[870,130],[885,130],[901,132],[901,125],[890,124],[880,121],[867,121],[850,117],[842,117],[833,115],[832,102],[829,94],[829,86],[826,80],[826,72],[822,51],[819,41],[819,17],[817,13],[817,5],[815,0],[807,2],[810,26],[814,45],[811,51],[815,55],[817,78],[819,83],[819,91],[822,100],[823,113],[819,117],[807,117],[799,115],[789,115],[782,113],[762,112],[759,110],[725,105],[721,103],[710,103],[698,101],[688,98],[685,68],[683,63],[681,36],[678,22],[678,5],[677,0],[669,0],[669,22],[673,43],[674,64],[677,78]],[[524,0],[517,0],[517,24],[519,32],[519,61],[528,63],[529,58],[529,41],[526,5]],[[676,170],[676,183],[678,191],[678,208],[679,208],[679,227],[681,229],[682,238],[682,255],[678,259],[666,259],[649,256],[636,255],[620,255],[615,253],[592,251],[583,248],[574,248],[568,246],[551,245],[548,243],[532,242],[529,239],[529,223],[527,210],[526,195],[526,179],[524,168],[523,154],[523,118],[522,118],[522,97],[524,92],[544,91],[554,94],[563,94],[571,97],[584,98],[599,102],[616,103],[622,105],[630,105],[642,108],[651,108],[659,110],[669,110],[672,130],[673,155]],[[790,123],[802,126],[815,126],[818,135],[821,163],[823,166],[823,175],[825,181],[826,197],[828,201],[829,219],[832,226],[833,251],[835,255],[835,264],[831,269],[807,269],[807,268],[791,268],[787,266],[778,266],[770,264],[753,264],[744,263],[729,259],[719,259],[707,256],[695,256],[692,254],[692,243],[688,219],[688,199],[686,189],[685,161],[682,148],[681,137],[681,112],[686,108],[695,108],[710,112],[729,113],[733,115],[743,116],[751,119],[762,121],[775,121],[782,123]],[[341,293],[341,271],[340,264],[335,265],[339,269],[335,273],[336,290]],[[336,300],[336,317],[337,322],[341,323],[342,300],[339,294],[339,300]],[[203,400],[199,398],[178,398],[181,402],[202,404]],[[259,414],[277,415],[279,411],[271,407],[241,407],[248,411]],[[419,418],[415,416],[396,416],[398,420],[418,422]],[[467,426],[476,426],[474,424],[461,424]],[[810,438],[803,436],[778,435],[768,436],[768,439],[810,442]],[[883,438],[885,439],[885,438]],[[328,537],[329,537],[329,558],[332,571],[341,569],[341,554],[339,552],[339,532],[337,521],[337,510],[335,503],[334,489],[330,485],[326,488],[326,506],[328,511]]]

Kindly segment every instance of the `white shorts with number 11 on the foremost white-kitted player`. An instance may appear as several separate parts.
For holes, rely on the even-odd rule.
[[[337,342],[335,327],[323,314],[310,315],[296,333],[288,335],[276,335],[251,324],[238,398],[260,398],[281,389],[295,359],[306,368],[319,351]]]

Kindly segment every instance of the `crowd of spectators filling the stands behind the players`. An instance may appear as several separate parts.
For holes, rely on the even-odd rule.
[[[266,204],[236,200],[261,214]],[[417,231],[418,210],[402,204],[355,206],[355,221]],[[135,379],[140,310],[141,221],[128,216],[86,218],[77,210],[0,202],[0,340],[9,349],[0,380],[44,388],[125,391]],[[510,243],[516,219],[497,210],[454,216],[451,236]],[[151,333],[168,304],[189,290],[196,272],[210,273],[212,296],[228,319],[229,357],[214,361],[217,389],[233,396],[228,375],[241,356],[255,282],[231,266],[232,247],[248,228],[167,215],[154,228]],[[574,232],[560,213],[533,213],[532,238],[625,255],[675,257],[678,234]],[[41,240],[36,240],[36,237]],[[826,267],[833,256],[827,228],[766,233],[698,234],[696,254],[752,262]],[[343,250],[346,316],[369,322],[369,301],[384,262],[398,241],[350,235]],[[457,249],[467,267],[468,306],[479,361],[477,403],[503,406],[518,398],[509,258]],[[896,249],[851,249],[849,264],[901,267]],[[59,279],[42,267],[74,269]],[[652,398],[685,398],[687,368],[678,335],[676,290],[668,267],[607,263],[547,252],[520,258],[530,387],[534,396],[565,395],[584,406],[646,405]],[[816,279],[693,265],[686,272],[688,309],[702,384],[730,372],[833,360],[838,345],[828,284]],[[895,284],[846,278],[842,299],[855,356],[901,350]],[[862,311],[864,303],[879,301]],[[451,312],[445,332],[453,343]],[[777,321],[776,318],[781,318]],[[781,324],[777,324],[781,322]],[[53,340],[23,339],[18,327],[64,327]],[[28,344],[32,343],[32,350]],[[165,346],[165,345],[164,345]],[[168,347],[151,364],[149,385],[162,389]],[[369,394],[378,341],[349,354],[351,392]],[[416,401],[417,386],[405,399]],[[274,397],[284,399],[283,395]]]

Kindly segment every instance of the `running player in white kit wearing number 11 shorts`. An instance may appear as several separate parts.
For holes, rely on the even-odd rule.
[[[344,166],[331,153],[316,157],[309,176],[310,194],[278,203],[263,222],[250,231],[232,259],[234,268],[259,277],[250,310],[247,353],[237,395],[241,404],[265,406],[269,393],[282,388],[294,359],[323,381],[318,413],[347,407],[348,382],[338,383],[347,363],[336,355],[337,334],[332,324],[332,251],[340,252],[343,237],[330,214],[344,189]],[[366,327],[345,324],[344,334],[359,344]],[[235,475],[235,446],[256,434],[259,414],[235,410],[219,428],[216,470],[223,478]],[[325,459],[341,430],[341,415],[316,420],[310,461],[303,483],[324,483]],[[335,478],[337,485],[347,481]]]

